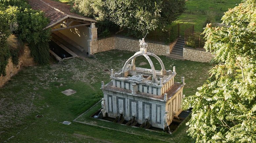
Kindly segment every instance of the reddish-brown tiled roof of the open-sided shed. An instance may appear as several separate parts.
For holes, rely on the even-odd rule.
[[[89,22],[97,22],[95,19],[70,12],[70,6],[64,3],[51,0],[28,0],[28,2],[32,9],[43,11],[45,16],[49,18],[50,23],[45,28],[52,27],[68,17]]]

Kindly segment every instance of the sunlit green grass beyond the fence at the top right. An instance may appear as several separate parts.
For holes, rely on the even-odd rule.
[[[207,12],[214,13],[213,21],[221,23],[221,17],[229,8],[234,8],[241,0],[187,0],[186,10],[178,22],[195,25],[195,31],[201,32],[206,26]]]

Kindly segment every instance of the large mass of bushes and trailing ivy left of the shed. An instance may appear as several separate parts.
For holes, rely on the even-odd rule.
[[[23,42],[29,44],[35,62],[49,62],[50,29],[43,30],[48,23],[43,13],[31,9],[26,0],[0,1],[0,75],[6,75],[10,57],[14,64],[18,64]]]

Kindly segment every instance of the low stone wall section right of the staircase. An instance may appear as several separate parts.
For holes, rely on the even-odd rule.
[[[189,61],[196,61],[196,62],[210,62],[211,59],[214,57],[210,52],[206,52],[203,49],[193,49],[185,47],[183,48],[183,58]]]

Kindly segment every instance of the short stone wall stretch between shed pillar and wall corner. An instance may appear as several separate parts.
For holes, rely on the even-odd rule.
[[[98,44],[97,53],[115,49],[115,41],[116,41],[116,37],[98,39],[97,40],[97,44]]]

